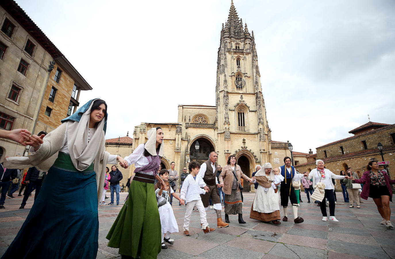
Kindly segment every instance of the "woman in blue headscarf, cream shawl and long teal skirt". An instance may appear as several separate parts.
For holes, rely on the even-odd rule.
[[[28,157],[4,161],[8,168],[47,171],[40,194],[2,258],[96,258],[98,200],[105,165],[127,164],[105,152],[107,104],[93,99],[33,144]],[[56,186],[56,189],[53,188]]]

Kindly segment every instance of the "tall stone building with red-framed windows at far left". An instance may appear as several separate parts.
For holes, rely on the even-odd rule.
[[[0,128],[50,132],[92,87],[17,3],[0,3]],[[0,139],[0,159],[25,147]]]

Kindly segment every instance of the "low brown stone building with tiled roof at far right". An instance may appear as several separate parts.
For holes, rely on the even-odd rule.
[[[395,178],[395,167],[392,167],[395,163],[395,124],[368,122],[348,133],[354,135],[318,147],[316,154],[307,156],[307,162],[296,168],[299,172],[311,171],[316,167],[316,159],[321,159],[325,167],[337,175],[350,167],[356,173],[363,173],[369,161],[382,161],[378,150],[378,143],[381,143],[384,161],[390,162],[387,166],[389,176]],[[341,190],[339,184],[337,190]]]

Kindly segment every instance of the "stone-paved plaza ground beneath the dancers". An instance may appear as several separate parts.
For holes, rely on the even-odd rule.
[[[321,220],[320,208],[315,203],[307,203],[306,195],[302,193],[304,202],[299,207],[298,216],[304,218],[305,222],[294,224],[292,209],[289,209],[289,221],[282,221],[281,225],[276,226],[249,218],[254,195],[244,193],[243,218],[246,224],[239,224],[237,215],[230,215],[230,226],[217,229],[216,214],[214,210],[208,210],[207,221],[216,231],[206,235],[200,229],[198,212],[192,213],[191,236],[182,235],[185,206],[178,206],[178,202],[175,202],[173,210],[180,232],[171,235],[175,239],[174,244],[167,245],[168,248],[162,250],[158,258],[395,258],[395,229],[380,225],[382,219],[370,198],[361,203],[361,208],[355,205],[349,208],[349,203],[341,201],[342,194],[337,193],[339,199],[335,216],[340,222],[324,222]],[[0,255],[11,244],[27,217],[33,197],[30,197],[23,210],[18,209],[22,197],[6,198],[6,209],[0,210]],[[125,192],[120,194],[121,205],[125,197]],[[395,224],[395,205],[390,203],[390,206],[391,220]],[[121,207],[99,206],[99,259],[120,258],[118,249],[107,247],[105,236]],[[282,216],[282,208],[280,211]]]

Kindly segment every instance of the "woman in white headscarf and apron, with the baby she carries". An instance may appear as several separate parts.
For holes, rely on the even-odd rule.
[[[280,170],[273,171],[271,163],[265,163],[253,178],[258,182],[255,199],[251,206],[250,218],[261,221],[272,221],[280,225],[279,192],[277,186],[284,177]]]

